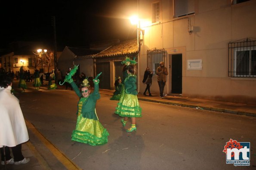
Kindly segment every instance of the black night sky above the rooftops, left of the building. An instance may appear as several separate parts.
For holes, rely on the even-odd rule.
[[[5,1],[0,6],[0,48],[13,41],[53,45],[52,16],[56,17],[58,51],[65,46],[88,47],[108,39],[132,39],[136,27],[129,17],[137,0]],[[41,4],[37,4],[41,3]]]

